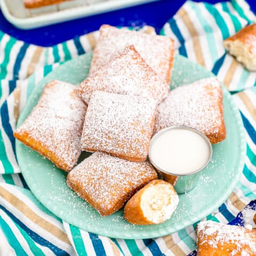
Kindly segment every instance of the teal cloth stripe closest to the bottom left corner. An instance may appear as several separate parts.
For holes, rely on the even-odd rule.
[[[15,225],[15,224],[14,224]],[[27,256],[28,254],[23,250],[21,244],[19,243],[18,239],[13,234],[11,228],[7,223],[4,221],[4,219],[0,215],[0,227],[2,228],[5,237],[7,238],[7,241],[12,246],[15,253],[19,256]]]

